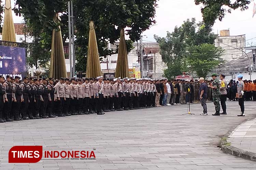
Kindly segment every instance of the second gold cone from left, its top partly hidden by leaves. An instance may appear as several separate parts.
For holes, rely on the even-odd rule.
[[[56,23],[60,22],[61,19],[58,13],[54,15],[53,20]],[[66,70],[65,55],[60,26],[58,28],[59,30],[53,30],[52,35],[50,77],[59,80],[61,77],[68,77],[68,75]]]

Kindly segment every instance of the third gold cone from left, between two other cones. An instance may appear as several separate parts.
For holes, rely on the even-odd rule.
[[[86,78],[96,78],[102,75],[94,21],[90,21],[89,44],[87,55]]]

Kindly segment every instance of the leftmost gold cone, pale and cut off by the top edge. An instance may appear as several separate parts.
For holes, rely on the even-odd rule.
[[[16,42],[16,34],[12,18],[11,0],[5,1],[2,41]]]

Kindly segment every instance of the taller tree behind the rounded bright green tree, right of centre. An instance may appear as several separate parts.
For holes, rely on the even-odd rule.
[[[196,23],[195,18],[192,18],[184,21],[181,27],[176,26],[172,33],[167,32],[165,38],[157,35],[154,37],[159,44],[162,61],[167,65],[164,76],[170,79],[188,71],[188,47],[202,43],[213,44],[216,35],[212,33],[212,27],[204,26],[203,22]]]

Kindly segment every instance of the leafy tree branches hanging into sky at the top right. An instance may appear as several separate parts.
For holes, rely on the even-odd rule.
[[[207,25],[213,26],[216,19],[222,21],[226,12],[240,8],[241,11],[248,9],[251,0],[195,0],[196,5],[202,4],[201,12]]]

